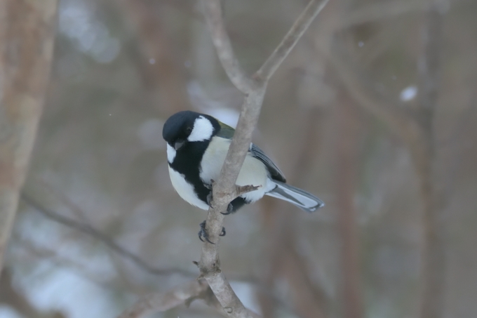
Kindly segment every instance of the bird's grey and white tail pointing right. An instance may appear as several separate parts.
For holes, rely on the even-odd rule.
[[[295,204],[304,211],[313,212],[318,208],[325,206],[325,203],[315,197],[313,194],[308,193],[304,190],[301,190],[293,185],[287,185],[286,183],[281,183],[280,181],[274,180],[276,187],[274,190],[267,192],[266,194],[270,197],[275,197]]]

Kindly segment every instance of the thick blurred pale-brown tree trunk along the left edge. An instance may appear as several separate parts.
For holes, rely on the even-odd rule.
[[[57,0],[0,0],[0,268],[48,84]]]

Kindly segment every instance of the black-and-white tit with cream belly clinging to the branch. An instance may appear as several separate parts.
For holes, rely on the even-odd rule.
[[[189,204],[208,210],[213,180],[219,178],[234,132],[234,128],[215,117],[190,110],[177,112],[164,123],[162,136],[166,140],[170,181]],[[278,166],[253,143],[250,143],[236,185],[253,185],[257,189],[232,200],[223,214],[234,213],[264,195],[288,201],[307,212],[325,206],[313,194],[288,185]],[[201,241],[202,237],[209,241],[205,225],[205,221],[201,223]],[[222,229],[221,235],[224,234]]]

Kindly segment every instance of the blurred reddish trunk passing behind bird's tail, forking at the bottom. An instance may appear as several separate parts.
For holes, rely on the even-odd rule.
[[[309,167],[318,156],[321,139],[323,111],[318,107],[304,110],[299,122],[303,123],[303,135],[300,152],[291,164],[291,178],[288,183],[296,184],[304,180]],[[271,295],[280,279],[290,286],[290,300],[294,311],[304,318],[325,318],[325,294],[311,279],[311,270],[307,260],[297,252],[296,215],[292,208],[275,201],[262,204],[264,214],[264,233],[267,235],[267,247],[264,255],[263,287],[266,293],[260,293],[260,306],[264,318],[276,317],[276,303]]]

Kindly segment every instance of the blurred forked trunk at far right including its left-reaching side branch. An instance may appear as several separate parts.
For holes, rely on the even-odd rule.
[[[424,16],[422,29],[424,49],[418,62],[419,107],[417,112],[404,111],[403,107],[377,99],[363,86],[345,58],[337,58],[337,54],[328,55],[342,83],[358,101],[358,105],[386,122],[403,138],[412,154],[423,206],[419,308],[421,318],[443,317],[445,294],[444,233],[439,214],[444,208],[443,202],[448,194],[445,193],[445,187],[438,178],[438,172],[443,169],[437,166],[437,143],[434,130],[443,41],[443,16],[438,6],[438,1],[433,1]]]

